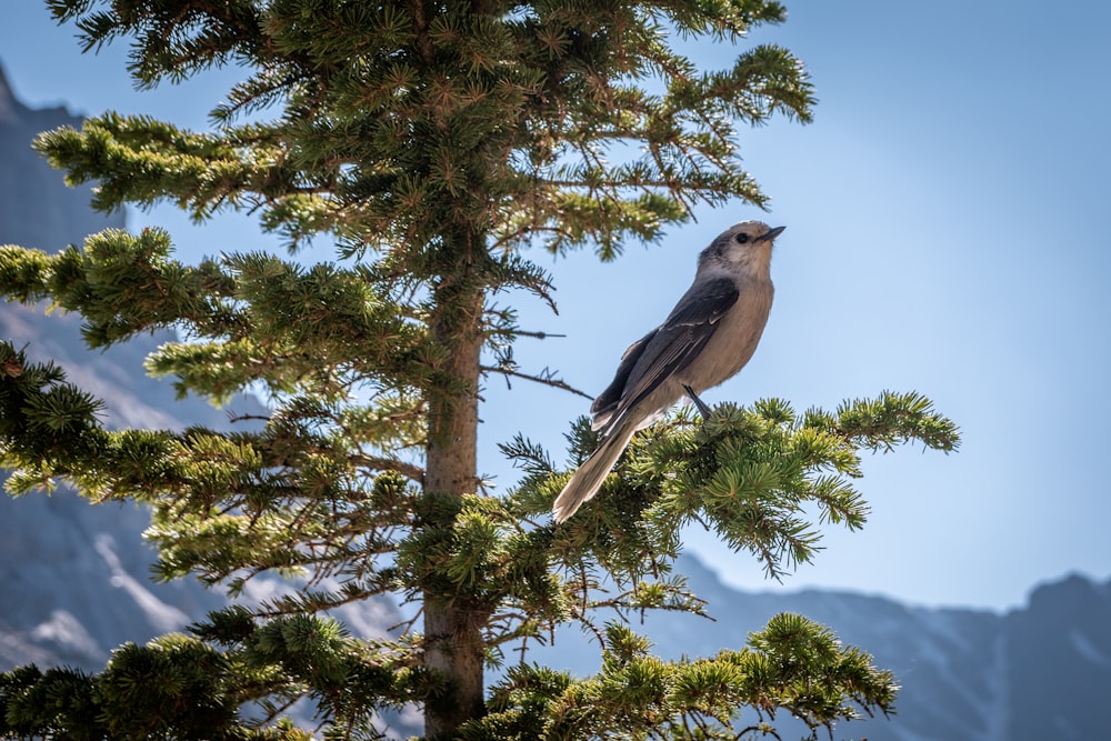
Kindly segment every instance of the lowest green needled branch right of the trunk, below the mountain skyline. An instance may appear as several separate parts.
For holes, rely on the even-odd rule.
[[[749,637],[749,648],[709,659],[662,661],[650,648],[611,623],[601,670],[591,678],[519,664],[494,685],[489,714],[464,727],[461,738],[755,738],[778,710],[788,710],[817,739],[820,729],[832,731],[834,721],[859,718],[861,710],[889,712],[897,690],[891,672],[872,667],[871,657],[797,614],[773,618]]]

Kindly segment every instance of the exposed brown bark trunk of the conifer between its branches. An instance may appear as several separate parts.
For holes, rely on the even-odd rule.
[[[466,390],[454,399],[429,402],[429,441],[426,495],[462,497],[477,489],[479,358],[482,350],[481,289],[448,288],[438,291],[439,316],[432,331],[452,349],[446,370]],[[431,508],[443,511],[442,508]],[[432,522],[450,527],[450,522]],[[464,594],[424,591],[424,665],[447,675],[443,701],[424,709],[424,735],[453,739],[459,725],[484,711],[482,628],[489,617]]]

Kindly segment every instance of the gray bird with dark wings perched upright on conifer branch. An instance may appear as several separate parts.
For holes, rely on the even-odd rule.
[[[774,288],[772,242],[785,227],[761,221],[733,224],[702,250],[694,282],[663,323],[629,346],[613,382],[594,399],[591,428],[600,442],[552,504],[556,522],[591,499],[632,440],[679,401],[698,398],[740,371],[760,341]]]

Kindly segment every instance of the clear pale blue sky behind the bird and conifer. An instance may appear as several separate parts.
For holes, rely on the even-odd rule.
[[[869,457],[859,482],[869,523],[828,530],[827,550],[782,587],[705,534],[691,532],[690,549],[745,588],[845,588],[929,605],[1003,609],[1070,571],[1105,579],[1111,3],[787,6],[788,22],[752,40],[800,56],[820,102],[810,126],[780,119],[742,133],[771,212],[703,210],[661,244],[630,244],[608,264],[538,256],[554,273],[560,314],[526,301],[524,327],[567,338],[522,341],[522,371],[556,368],[597,393],[624,347],[685,290],[711,237],[747,218],[785,224],[761,347],[705,400],[781,397],[801,410],[918,390],[957,420],[963,445]],[[236,77],[139,93],[122,47],[81,56],[73,30],[54,27],[36,0],[6,3],[2,18],[0,61],[34,107],[203,128]],[[694,56],[722,67],[732,53],[700,44]],[[273,247],[244,219],[196,230],[159,209],[131,223],[168,227],[183,259]],[[561,454],[568,422],[589,405],[520,381],[508,391],[499,378],[486,398],[480,469],[500,487],[514,473],[497,442],[520,430]]]

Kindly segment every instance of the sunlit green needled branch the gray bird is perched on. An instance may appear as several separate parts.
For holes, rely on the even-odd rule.
[[[593,439],[579,420],[569,435],[572,454],[589,451]],[[634,438],[599,495],[551,529],[565,604],[598,634],[590,613],[599,609],[700,612],[682,580],[667,577],[689,523],[750,552],[779,578],[814,558],[821,524],[864,524],[869,507],[853,485],[860,450],[911,440],[945,451],[959,443],[953,423],[917,393],[888,392],[832,414],[811,409],[799,415],[775,399],[751,409],[722,404],[704,423],[683,410]],[[547,512],[571,471],[521,438],[502,451],[526,471],[512,494],[517,510],[528,518]],[[617,591],[600,589],[600,573]]]

